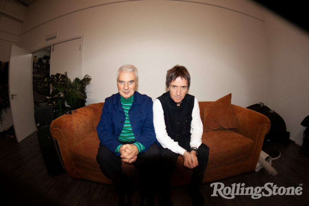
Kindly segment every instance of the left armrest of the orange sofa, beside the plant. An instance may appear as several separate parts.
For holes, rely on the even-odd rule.
[[[50,124],[50,132],[58,142],[66,170],[74,178],[77,178],[77,175],[72,165],[71,148],[94,130],[94,112],[89,105],[77,109],[71,115],[62,115]]]

